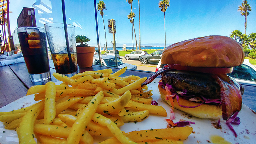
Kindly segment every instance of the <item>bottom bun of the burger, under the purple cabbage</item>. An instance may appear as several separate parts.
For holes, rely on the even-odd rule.
[[[166,96],[166,90],[163,89],[161,86],[158,85],[158,89],[161,95],[161,98],[168,103],[171,106],[171,103],[169,100],[165,99]],[[208,105],[208,104],[202,104],[198,107],[195,108],[183,108],[181,107],[177,99],[175,97],[174,101],[174,108],[184,111],[192,116],[196,116],[199,118],[211,118],[211,119],[219,119],[222,117],[222,111],[221,111],[221,106],[215,106],[215,105]],[[184,106],[196,106],[198,103],[191,102],[182,98],[179,98],[179,103]]]

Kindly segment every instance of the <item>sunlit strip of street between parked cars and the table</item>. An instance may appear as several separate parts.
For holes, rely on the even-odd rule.
[[[132,65],[135,65],[137,66],[137,69],[138,70],[142,70],[142,71],[152,71],[152,72],[155,72],[156,71],[156,66],[157,64],[153,65],[153,64],[146,64],[146,65],[143,65],[141,64],[141,62],[139,60],[126,60],[125,58],[123,57],[120,57],[120,59],[124,62],[124,63],[127,63],[127,64],[132,64]]]

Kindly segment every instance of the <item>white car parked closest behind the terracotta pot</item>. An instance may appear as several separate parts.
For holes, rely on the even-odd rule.
[[[99,56],[98,55],[94,55],[93,65],[99,65]],[[115,56],[102,54],[101,55],[101,65],[107,66],[107,67],[116,67]],[[117,65],[119,68],[127,67],[127,69],[133,69],[133,70],[137,69],[137,66],[131,65],[131,64],[125,64],[119,58],[117,58]]]

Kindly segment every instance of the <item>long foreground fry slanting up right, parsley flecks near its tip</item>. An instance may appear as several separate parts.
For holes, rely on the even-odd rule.
[[[79,139],[85,131],[85,126],[91,121],[102,98],[103,92],[96,94],[86,108],[83,109],[83,112],[78,115],[67,138],[67,144],[79,143]]]

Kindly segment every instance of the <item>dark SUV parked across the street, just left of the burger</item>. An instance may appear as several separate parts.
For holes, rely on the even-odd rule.
[[[164,50],[157,50],[152,52],[150,55],[143,55],[139,57],[139,61],[142,64],[158,63],[161,60],[161,55]]]

